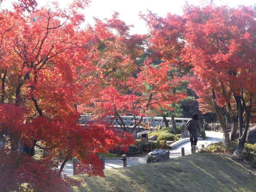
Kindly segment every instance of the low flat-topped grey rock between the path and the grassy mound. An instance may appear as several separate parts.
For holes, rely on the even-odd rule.
[[[147,164],[164,161],[166,159],[170,159],[169,150],[157,149],[157,150],[154,150],[154,151],[148,153]]]

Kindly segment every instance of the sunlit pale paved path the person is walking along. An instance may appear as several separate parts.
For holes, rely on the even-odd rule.
[[[205,131],[205,133],[206,133],[206,139],[197,141],[198,148],[201,148],[202,144],[204,144],[204,146],[206,147],[210,143],[222,141],[223,133],[211,132],[211,131]],[[170,150],[170,158],[180,157],[182,147],[185,148],[185,155],[191,154],[190,142],[186,142],[174,148],[173,150]],[[146,156],[147,155],[127,157],[127,166],[146,164],[147,163]],[[105,169],[112,169],[112,168],[119,168],[119,167],[123,167],[122,160],[110,160],[110,159],[105,160]],[[73,164],[65,165],[63,170],[64,170],[63,173],[67,175],[73,175]]]

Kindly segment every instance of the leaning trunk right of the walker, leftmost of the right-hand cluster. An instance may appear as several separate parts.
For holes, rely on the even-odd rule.
[[[225,143],[229,143],[230,142],[230,139],[229,139],[229,133],[228,133],[228,129],[227,129],[227,124],[226,124],[226,121],[225,121],[225,118],[223,117],[223,114],[221,112],[221,109],[220,109],[220,106],[217,105],[217,103],[215,102],[215,92],[214,90],[212,90],[212,104],[213,104],[213,108],[217,114],[217,117],[220,121],[220,126],[224,132],[224,137],[225,137]]]

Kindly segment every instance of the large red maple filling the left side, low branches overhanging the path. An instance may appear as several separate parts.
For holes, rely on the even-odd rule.
[[[87,1],[76,0],[64,10],[20,2],[21,9],[0,12],[1,190],[21,190],[23,183],[26,190],[68,190],[76,184],[61,174],[69,158],[80,161],[78,173],[104,176],[96,153],[133,142],[107,122],[77,122],[77,103],[101,80],[99,45],[108,36],[99,40],[98,34],[109,31],[79,27],[84,16],[78,10]],[[26,6],[33,9],[24,12]],[[35,147],[48,155],[34,159]]]

